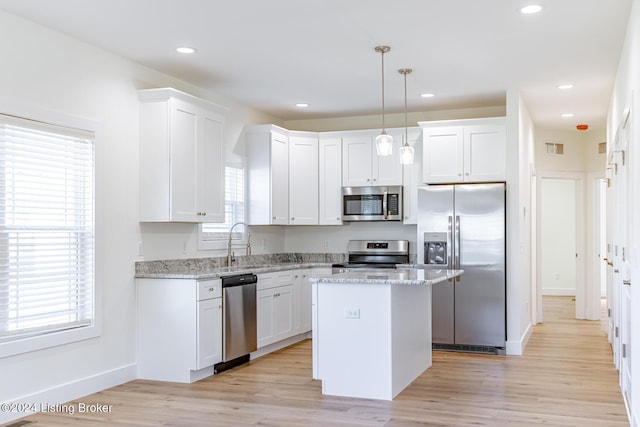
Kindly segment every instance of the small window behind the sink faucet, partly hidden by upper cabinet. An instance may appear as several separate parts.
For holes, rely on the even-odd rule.
[[[228,165],[224,169],[224,210],[225,221],[205,223],[200,227],[200,249],[222,249],[229,239],[229,229],[237,222],[244,221],[244,168]],[[244,225],[233,229],[233,239],[244,240]],[[224,245],[222,244],[224,242]]]

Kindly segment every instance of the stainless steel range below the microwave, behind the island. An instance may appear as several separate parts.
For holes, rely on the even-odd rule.
[[[333,273],[362,268],[396,268],[409,263],[408,240],[349,240],[348,262],[333,264]]]

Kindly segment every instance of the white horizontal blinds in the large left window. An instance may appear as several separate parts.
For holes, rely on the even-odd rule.
[[[94,135],[0,115],[0,343],[94,321]]]

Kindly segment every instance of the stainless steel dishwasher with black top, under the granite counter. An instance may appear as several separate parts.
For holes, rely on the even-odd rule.
[[[256,326],[255,274],[222,277],[222,372],[249,361],[249,353],[258,349]]]

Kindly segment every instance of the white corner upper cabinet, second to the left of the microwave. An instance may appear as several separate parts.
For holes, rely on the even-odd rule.
[[[318,134],[289,133],[289,224],[318,224]]]

